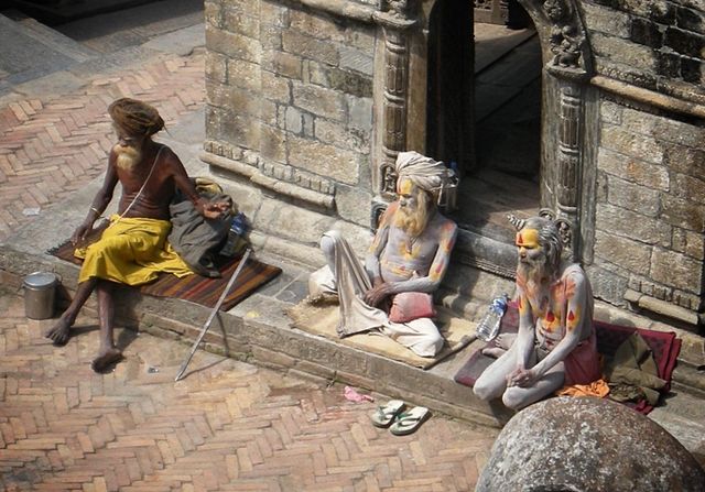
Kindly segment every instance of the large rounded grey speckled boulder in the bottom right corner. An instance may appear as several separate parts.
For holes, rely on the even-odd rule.
[[[476,492],[705,491],[705,471],[660,425],[607,400],[557,397],[514,415]]]

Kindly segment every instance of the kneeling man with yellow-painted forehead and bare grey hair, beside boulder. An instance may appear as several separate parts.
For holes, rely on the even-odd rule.
[[[563,243],[554,221],[518,221],[516,340],[477,380],[482,400],[501,397],[519,409],[567,384],[600,378],[593,327],[593,292],[583,269],[562,261]]]

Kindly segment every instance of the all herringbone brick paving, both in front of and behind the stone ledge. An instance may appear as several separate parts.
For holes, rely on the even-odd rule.
[[[113,99],[155,105],[167,128],[203,107],[203,50],[133,68],[0,100],[0,241],[104,171]],[[468,491],[496,435],[434,416],[394,437],[370,425],[376,404],[347,402],[339,385],[200,351],[174,383],[189,348],[129,330],[127,359],[95,374],[95,320],[88,310],[54,348],[51,321],[26,319],[0,287],[0,489]]]

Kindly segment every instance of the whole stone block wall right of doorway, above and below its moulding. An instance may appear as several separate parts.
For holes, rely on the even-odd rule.
[[[685,319],[705,308],[705,4],[578,4],[593,83],[607,89],[596,111],[596,293],[617,305],[646,296]]]

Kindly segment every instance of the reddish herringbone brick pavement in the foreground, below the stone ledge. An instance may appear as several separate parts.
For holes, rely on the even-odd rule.
[[[189,347],[119,331],[126,360],[89,362],[95,314],[63,348],[0,291],[0,489],[8,491],[469,491],[496,430],[433,416],[415,434],[377,403]]]

